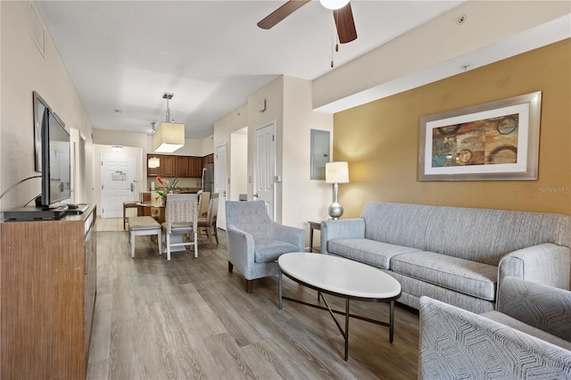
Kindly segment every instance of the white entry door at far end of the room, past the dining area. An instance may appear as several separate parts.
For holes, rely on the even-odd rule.
[[[136,201],[135,156],[101,155],[102,218],[123,218],[123,202]]]

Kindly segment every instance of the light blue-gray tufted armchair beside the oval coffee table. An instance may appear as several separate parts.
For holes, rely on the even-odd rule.
[[[252,293],[256,278],[277,275],[277,258],[286,252],[303,252],[305,230],[273,222],[265,202],[226,202],[228,271],[236,267]]]

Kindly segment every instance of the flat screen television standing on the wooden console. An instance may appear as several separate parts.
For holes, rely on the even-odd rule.
[[[36,202],[44,209],[71,196],[70,134],[49,108],[42,118],[42,194]]]

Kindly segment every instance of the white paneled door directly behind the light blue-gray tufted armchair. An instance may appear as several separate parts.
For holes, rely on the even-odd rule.
[[[256,128],[253,143],[253,198],[266,202],[269,218],[276,220],[276,122]]]

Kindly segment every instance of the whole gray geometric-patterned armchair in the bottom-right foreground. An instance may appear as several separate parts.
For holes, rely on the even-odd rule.
[[[420,298],[419,379],[571,378],[571,292],[506,277],[482,315]]]

